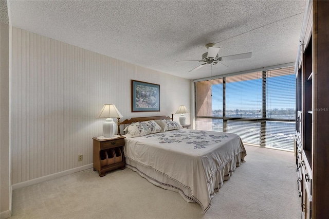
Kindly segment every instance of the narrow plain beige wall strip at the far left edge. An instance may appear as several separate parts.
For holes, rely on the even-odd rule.
[[[0,206],[1,218],[11,215],[9,146],[9,25],[0,22]]]

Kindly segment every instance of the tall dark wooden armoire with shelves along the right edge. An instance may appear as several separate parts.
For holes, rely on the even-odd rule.
[[[329,1],[306,1],[295,65],[302,218],[329,218]]]

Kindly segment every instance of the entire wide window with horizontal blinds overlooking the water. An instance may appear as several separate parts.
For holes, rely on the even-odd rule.
[[[295,86],[293,67],[194,82],[195,128],[293,151]]]

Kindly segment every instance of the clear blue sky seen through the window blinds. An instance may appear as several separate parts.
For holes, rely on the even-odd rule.
[[[295,75],[266,79],[266,111],[287,111],[295,117]],[[212,110],[223,111],[223,84],[212,85]],[[262,79],[226,83],[226,111],[262,112]]]

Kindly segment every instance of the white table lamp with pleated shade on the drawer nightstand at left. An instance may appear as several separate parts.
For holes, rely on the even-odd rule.
[[[105,104],[96,118],[106,118],[103,124],[104,137],[113,137],[115,133],[115,122],[112,118],[122,118],[114,104]]]

